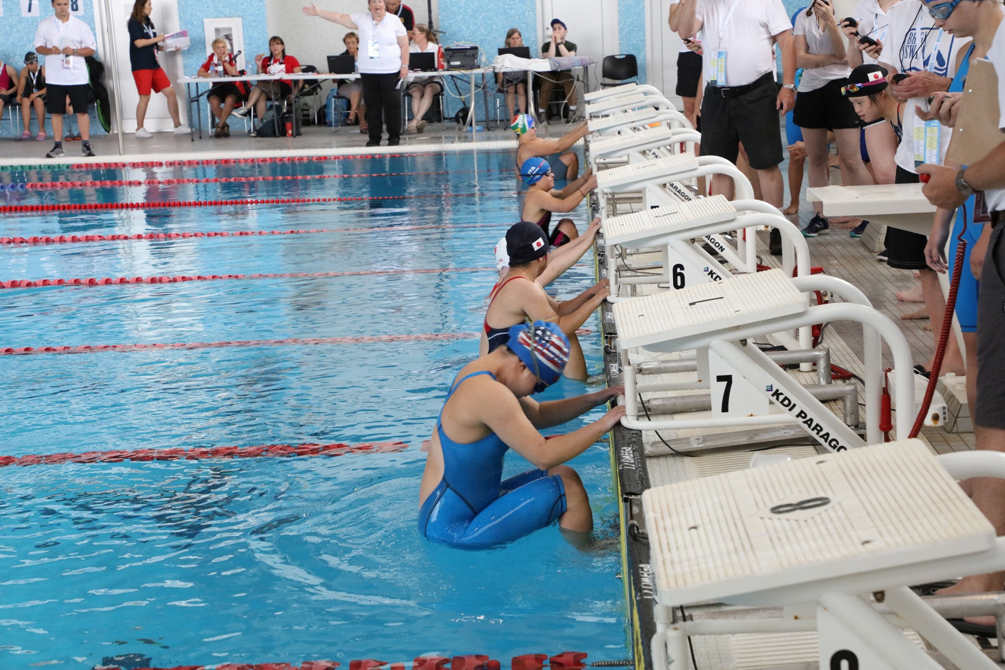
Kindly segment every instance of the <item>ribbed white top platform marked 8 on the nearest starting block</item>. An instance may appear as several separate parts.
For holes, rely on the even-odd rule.
[[[919,440],[655,487],[642,503],[657,601],[668,607],[804,583],[826,591],[829,578],[995,544],[994,528]]]

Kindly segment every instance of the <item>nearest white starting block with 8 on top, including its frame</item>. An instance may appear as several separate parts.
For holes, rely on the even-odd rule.
[[[908,589],[1005,569],[1005,538],[955,481],[978,473],[1005,478],[1005,455],[936,457],[910,440],[645,491],[653,667],[690,667],[691,635],[816,630],[822,670],[943,668],[898,629],[963,670],[1000,667]],[[671,620],[671,608],[710,602],[784,609]]]

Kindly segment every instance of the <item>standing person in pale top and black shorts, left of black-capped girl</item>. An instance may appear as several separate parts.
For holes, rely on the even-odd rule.
[[[837,27],[834,9],[827,0],[814,0],[809,9],[799,12],[793,29],[796,44],[796,66],[803,70],[799,80],[792,122],[802,129],[803,145],[810,163],[810,187],[819,188],[830,182],[827,161],[827,131],[834,131],[837,156],[850,177],[845,186],[864,186],[872,177],[862,163],[859,150],[861,131],[858,116],[841,87],[851,68],[845,58],[844,36]],[[807,237],[830,231],[823,216],[823,205],[813,203],[814,215],[803,229]]]

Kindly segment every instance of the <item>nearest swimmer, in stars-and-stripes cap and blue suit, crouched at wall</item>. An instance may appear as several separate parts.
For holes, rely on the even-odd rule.
[[[562,464],[610,432],[624,406],[551,440],[538,431],[572,421],[624,388],[539,403],[529,396],[558,381],[569,341],[542,321],[514,326],[510,335],[506,346],[461,368],[443,402],[419,489],[419,532],[434,542],[479,548],[558,520],[567,539],[583,544],[593,529],[590,499],[576,471]],[[510,449],[534,469],[504,481]]]

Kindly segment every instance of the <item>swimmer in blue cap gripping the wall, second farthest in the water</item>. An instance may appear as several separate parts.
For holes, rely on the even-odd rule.
[[[552,213],[565,214],[572,211],[587,193],[597,187],[593,170],[587,170],[582,177],[569,182],[562,190],[553,190],[555,175],[552,173],[552,166],[544,158],[528,158],[520,167],[520,176],[529,187],[521,218],[544,228],[548,242],[553,246],[561,246],[578,237],[576,223],[568,217],[560,220],[552,230]]]

